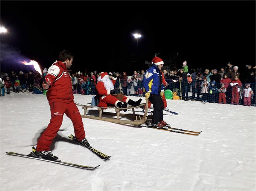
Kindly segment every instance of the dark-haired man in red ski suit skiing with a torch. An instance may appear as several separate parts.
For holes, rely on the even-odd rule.
[[[71,119],[77,140],[89,146],[85,138],[83,122],[77,106],[74,103],[71,76],[67,72],[72,65],[73,55],[66,50],[59,54],[59,61],[56,61],[48,69],[43,88],[48,89],[47,100],[51,110],[51,120],[46,130],[40,136],[36,149],[33,148],[31,155],[51,161],[60,161],[50,151],[52,140],[62,124],[63,115]]]

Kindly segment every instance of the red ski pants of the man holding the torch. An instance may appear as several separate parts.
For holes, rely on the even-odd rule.
[[[64,114],[66,114],[67,117],[71,119],[76,138],[79,141],[85,138],[85,131],[83,129],[81,114],[74,102],[69,104],[63,102],[52,102],[50,103],[50,109],[52,118],[46,130],[44,130],[43,134],[40,136],[37,142],[37,151],[50,150],[50,145],[52,144],[52,140],[55,138],[58,130],[60,129]]]

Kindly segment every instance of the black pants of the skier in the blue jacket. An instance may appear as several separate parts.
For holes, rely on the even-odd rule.
[[[164,109],[164,103],[162,102],[161,95],[150,94],[148,100],[154,105],[152,124],[157,124],[164,119],[162,110]]]

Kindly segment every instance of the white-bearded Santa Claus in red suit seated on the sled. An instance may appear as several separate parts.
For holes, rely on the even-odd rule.
[[[114,84],[116,83],[116,76],[113,73],[112,79],[109,78],[108,73],[104,72],[101,74],[101,79],[96,85],[97,98],[99,99],[98,107],[108,107],[116,106],[118,108],[127,108],[127,104],[131,106],[138,106],[142,99],[136,102],[123,96],[122,102],[119,101],[114,94],[120,93],[119,88],[114,89]],[[127,110],[124,110],[126,112]]]

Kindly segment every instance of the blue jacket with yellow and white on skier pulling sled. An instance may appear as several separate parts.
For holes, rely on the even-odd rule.
[[[150,91],[153,94],[159,95],[162,86],[162,73],[159,71],[156,65],[150,67],[143,78],[143,86],[146,92]]]

